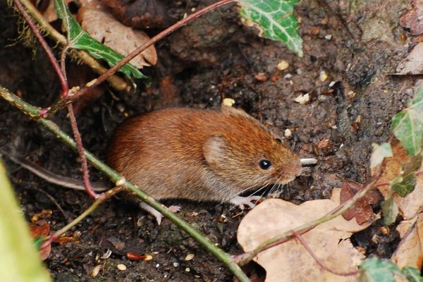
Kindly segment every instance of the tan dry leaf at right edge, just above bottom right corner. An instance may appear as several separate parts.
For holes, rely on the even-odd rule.
[[[410,227],[412,227],[410,229]],[[423,261],[423,214],[417,214],[409,221],[402,221],[397,227],[402,238],[392,260],[398,267],[412,266],[422,269]]]

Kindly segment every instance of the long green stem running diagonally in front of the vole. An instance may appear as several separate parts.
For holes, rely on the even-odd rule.
[[[69,137],[66,133],[64,133],[56,123],[53,121],[49,121],[45,118],[39,117],[39,111],[40,109],[32,106],[31,104],[28,104],[27,102],[20,99],[16,94],[13,94],[6,88],[2,87],[0,85],[0,97],[5,99],[7,102],[15,106],[17,109],[23,112],[23,114],[29,116],[33,120],[37,121],[37,123],[41,124],[44,128],[49,130],[51,133],[54,133],[56,137],[59,138],[63,143],[68,145],[68,147],[71,147],[73,150],[78,151],[78,147],[75,143],[75,141]],[[250,279],[245,275],[245,273],[240,269],[240,266],[236,264],[232,256],[228,253],[221,250],[219,247],[216,247],[214,243],[210,242],[202,233],[195,230],[195,228],[192,228],[190,224],[188,224],[183,219],[180,219],[179,216],[176,214],[173,214],[173,212],[169,211],[163,204],[157,202],[152,197],[147,195],[145,192],[137,188],[136,185],[133,185],[133,183],[130,183],[129,181],[126,181],[123,176],[121,176],[118,172],[114,171],[112,168],[104,164],[102,161],[94,157],[93,154],[85,150],[85,157],[87,157],[87,160],[90,161],[90,163],[99,169],[99,171],[102,171],[107,177],[109,177],[114,183],[116,183],[116,186],[124,186],[128,190],[132,191],[135,195],[140,197],[140,199],[150,206],[152,206],[157,211],[161,212],[164,216],[166,216],[169,220],[171,220],[173,223],[176,224],[180,229],[185,231],[188,235],[190,235],[192,238],[197,240],[200,245],[202,245],[208,252],[210,252],[214,257],[219,259],[223,264],[225,264],[228,269],[232,271],[232,273],[238,278],[241,282],[247,282],[250,281]]]

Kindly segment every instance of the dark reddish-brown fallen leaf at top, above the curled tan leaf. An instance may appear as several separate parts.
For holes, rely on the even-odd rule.
[[[102,0],[113,15],[125,25],[136,28],[166,28],[173,20],[160,0]]]

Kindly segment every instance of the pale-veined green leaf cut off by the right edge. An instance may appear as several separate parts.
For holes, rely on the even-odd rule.
[[[417,89],[407,109],[393,116],[392,130],[407,154],[419,154],[423,137],[423,88]]]

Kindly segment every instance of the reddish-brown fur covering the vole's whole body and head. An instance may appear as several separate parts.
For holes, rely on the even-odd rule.
[[[271,161],[269,169],[260,168],[262,159]],[[228,106],[130,118],[116,130],[108,162],[156,199],[224,202],[250,188],[288,183],[301,172],[281,140]]]

